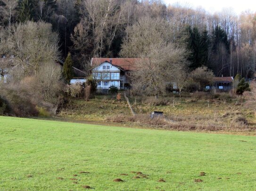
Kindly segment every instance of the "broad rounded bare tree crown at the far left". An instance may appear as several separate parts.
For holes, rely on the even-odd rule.
[[[15,24],[4,31],[0,51],[15,55],[15,63],[24,73],[35,75],[42,63],[58,59],[58,34],[49,23]]]

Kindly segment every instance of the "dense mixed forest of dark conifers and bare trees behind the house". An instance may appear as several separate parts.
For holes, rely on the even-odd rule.
[[[151,39],[131,45],[138,49],[132,47],[133,52],[122,49],[132,35],[139,35],[136,30],[154,33],[155,21],[161,23],[155,30],[163,30],[165,41],[186,48],[190,69],[207,66],[216,76],[254,76],[255,13],[223,9],[209,14],[160,0],[0,0],[1,31],[27,21],[51,23],[59,36],[59,56],[70,52],[79,69],[86,69],[91,57],[140,56],[141,43],[150,47]],[[151,23],[142,26],[145,22]],[[7,48],[1,51],[11,54]]]

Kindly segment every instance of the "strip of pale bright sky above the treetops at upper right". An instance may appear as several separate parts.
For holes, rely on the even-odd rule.
[[[236,14],[250,10],[256,12],[256,0],[163,0],[167,5],[179,2],[191,8],[201,7],[210,13],[221,11],[223,8],[232,8]]]

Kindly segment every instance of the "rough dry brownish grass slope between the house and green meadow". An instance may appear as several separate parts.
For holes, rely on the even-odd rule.
[[[223,94],[224,95],[224,94]],[[170,100],[174,100],[170,104]],[[159,102],[158,102],[159,101]],[[204,131],[254,131],[256,127],[255,112],[245,109],[243,102],[237,99],[195,98],[155,98],[131,99],[132,108],[137,115],[132,116],[124,100],[117,101],[116,96],[97,96],[85,102],[73,99],[58,115],[91,122],[113,122],[143,128],[170,130],[204,130]],[[158,104],[161,103],[162,104]],[[166,103],[166,104],[165,104]],[[151,120],[152,111],[163,111],[165,118]]]

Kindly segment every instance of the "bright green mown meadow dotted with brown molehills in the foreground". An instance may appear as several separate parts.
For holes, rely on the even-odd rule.
[[[133,178],[132,171],[148,178]],[[87,190],[84,185],[255,191],[256,138],[0,117],[0,191]]]

